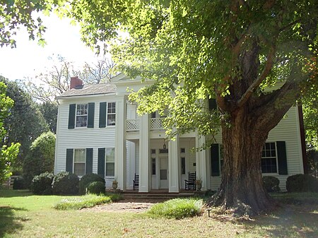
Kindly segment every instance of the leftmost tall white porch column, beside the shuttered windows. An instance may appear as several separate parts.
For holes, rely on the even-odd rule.
[[[115,174],[118,189],[126,191],[126,95],[116,102]]]

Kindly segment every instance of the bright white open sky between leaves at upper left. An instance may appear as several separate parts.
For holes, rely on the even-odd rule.
[[[41,17],[47,30],[45,47],[30,41],[26,30],[20,30],[16,37],[16,48],[0,47],[0,75],[9,80],[34,78],[52,61],[49,56],[63,56],[66,61],[81,66],[85,61],[96,61],[95,53],[81,42],[79,25],[71,25],[70,19],[59,19],[55,15]]]

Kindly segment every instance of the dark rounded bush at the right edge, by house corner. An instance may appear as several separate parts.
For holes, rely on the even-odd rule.
[[[287,178],[288,192],[318,192],[318,180],[308,174],[295,174]]]

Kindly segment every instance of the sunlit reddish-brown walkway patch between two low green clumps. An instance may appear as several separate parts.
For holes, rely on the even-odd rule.
[[[147,202],[132,202],[132,201],[121,201],[117,203],[110,203],[93,208],[83,208],[83,211],[95,211],[95,212],[129,212],[129,213],[143,213],[148,210],[154,203]]]

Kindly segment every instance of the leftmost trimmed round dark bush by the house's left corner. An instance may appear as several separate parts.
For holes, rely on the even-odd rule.
[[[49,172],[36,175],[32,179],[32,183],[31,183],[31,191],[33,192],[33,194],[44,194],[44,195],[52,194],[53,178],[54,178],[54,174]]]

